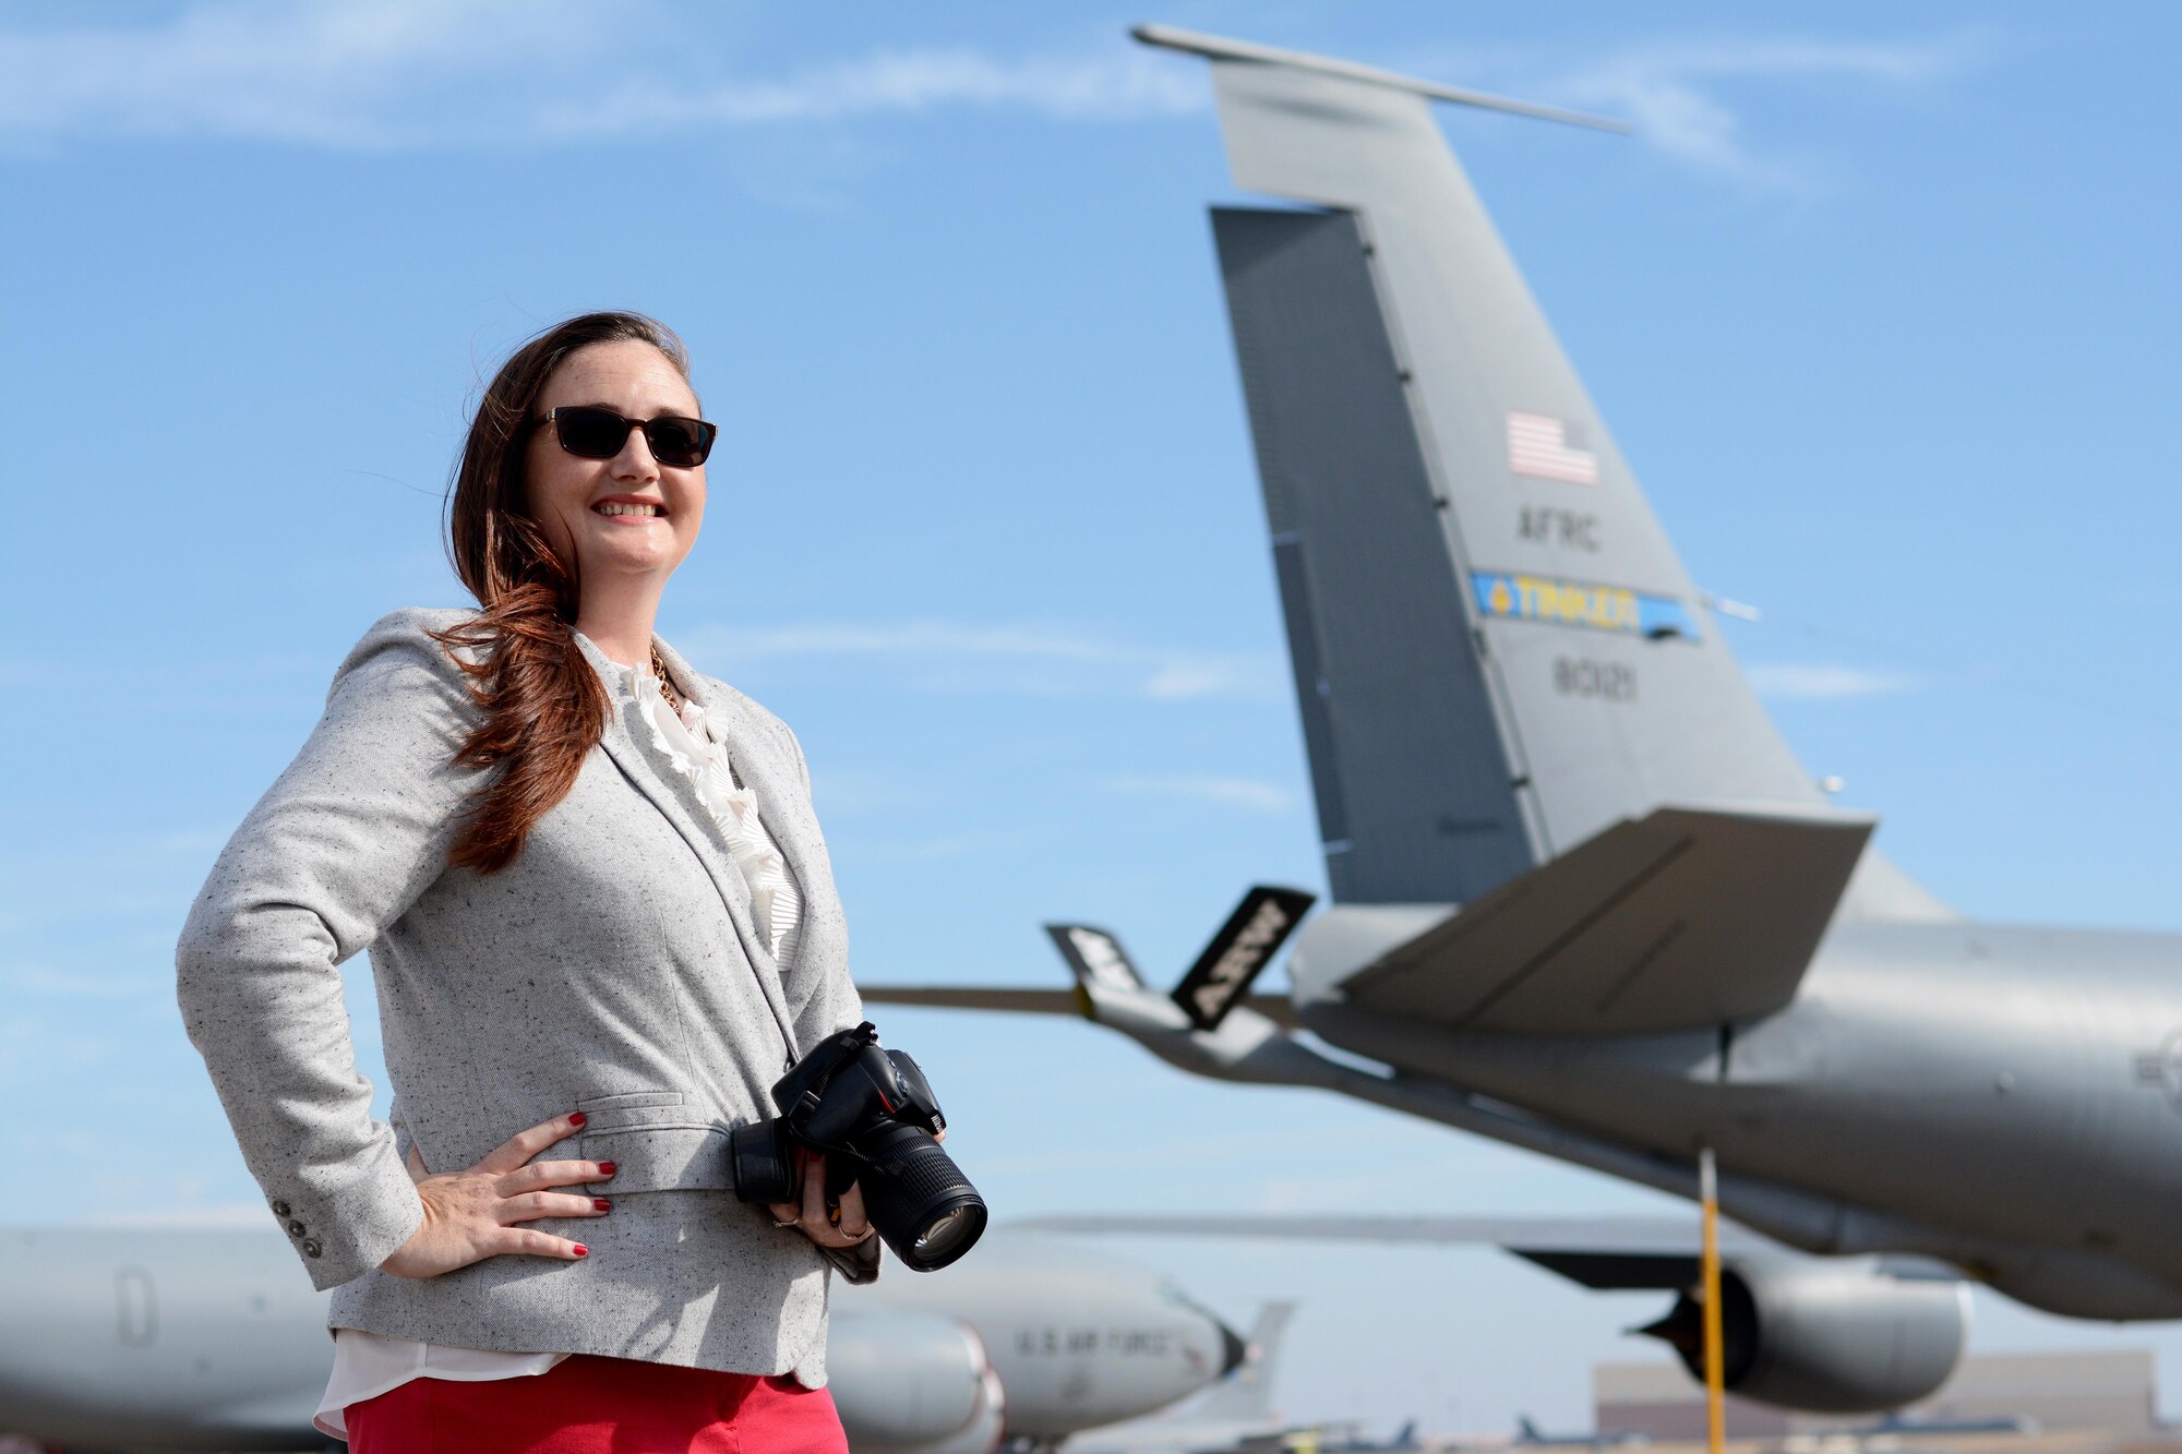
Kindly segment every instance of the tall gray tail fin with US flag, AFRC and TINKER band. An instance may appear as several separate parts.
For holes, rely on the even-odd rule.
[[[1813,808],[1429,90],[1211,57],[1213,210],[1327,878],[1466,904],[1667,801]],[[1309,61],[1309,63],[1305,63]],[[1863,917],[1946,917],[1872,860]]]

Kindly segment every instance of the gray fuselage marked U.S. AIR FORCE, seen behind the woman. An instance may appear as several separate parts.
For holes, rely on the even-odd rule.
[[[323,1443],[310,1419],[334,1360],[325,1295],[273,1227],[7,1229],[0,1288],[0,1432],[85,1450]],[[1008,1428],[1045,1439],[1165,1408],[1244,1356],[1167,1279],[1006,1229],[930,1277],[888,1266],[834,1314],[836,1402],[860,1447],[962,1447],[925,1428],[975,1393],[956,1386],[962,1327]]]

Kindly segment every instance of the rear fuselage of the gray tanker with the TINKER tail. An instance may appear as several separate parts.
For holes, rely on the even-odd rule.
[[[2075,1316],[2182,1316],[2182,937],[1839,926],[1785,1009],[1665,1035],[1455,1030],[1307,987],[1298,1011],[1396,1070],[1667,1159],[1711,1144],[1846,1207],[1813,1233],[1728,1183],[1730,1214],[1813,1251],[1940,1255]]]

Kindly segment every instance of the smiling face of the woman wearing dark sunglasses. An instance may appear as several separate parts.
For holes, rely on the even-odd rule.
[[[648,343],[594,343],[570,354],[546,380],[535,419],[552,408],[611,408],[626,419],[696,417],[690,380]],[[530,430],[524,454],[524,504],[554,555],[570,561],[585,592],[633,576],[663,581],[690,555],[705,524],[705,467],[674,469],[652,458],[644,430],[628,430],[613,458],[578,458],[552,424]],[[609,589],[613,589],[609,587]]]

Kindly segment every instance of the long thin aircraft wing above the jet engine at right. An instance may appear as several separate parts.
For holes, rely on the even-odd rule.
[[[1676,1216],[1034,1216],[1017,1227],[1074,1233],[1156,1233],[1290,1238],[1314,1242],[1427,1242],[1501,1247],[1549,1273],[1597,1290],[1687,1288],[1698,1279],[1695,1218]],[[1724,1258],[1800,1258],[1772,1238],[1722,1220]],[[1892,1277],[1957,1282],[1962,1273],[1929,1258],[1885,1258]]]

